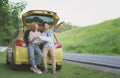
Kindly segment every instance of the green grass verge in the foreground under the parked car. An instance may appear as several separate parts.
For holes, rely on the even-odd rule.
[[[38,75],[29,69],[12,71],[5,64],[5,58],[6,53],[0,53],[0,78],[120,78],[120,74],[103,72],[66,62],[63,62],[62,70],[57,71],[56,74],[43,73]]]

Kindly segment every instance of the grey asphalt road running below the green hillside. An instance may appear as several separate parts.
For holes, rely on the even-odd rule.
[[[63,59],[66,61],[120,69],[120,56],[63,53]]]

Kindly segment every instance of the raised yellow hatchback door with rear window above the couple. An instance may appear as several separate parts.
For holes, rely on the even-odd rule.
[[[43,22],[50,24],[50,27],[54,26],[59,20],[57,14],[53,11],[47,10],[30,10],[22,15],[24,30],[31,28],[31,22],[37,21],[41,26]],[[40,27],[42,29],[42,26]]]

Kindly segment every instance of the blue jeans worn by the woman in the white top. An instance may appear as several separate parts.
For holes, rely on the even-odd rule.
[[[37,58],[35,58],[35,52],[37,53]],[[40,61],[42,60],[43,54],[37,44],[28,44],[28,53],[29,59],[32,67],[39,65]]]

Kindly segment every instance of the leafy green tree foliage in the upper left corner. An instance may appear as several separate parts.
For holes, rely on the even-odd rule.
[[[8,0],[0,1],[0,45],[4,45],[4,39],[11,37],[17,28],[21,27],[20,12],[25,8],[25,2],[13,3]]]

